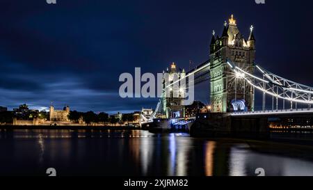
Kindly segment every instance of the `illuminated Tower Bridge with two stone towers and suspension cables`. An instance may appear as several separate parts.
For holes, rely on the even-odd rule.
[[[313,88],[262,68],[255,61],[255,45],[253,26],[250,27],[248,38],[244,38],[232,15],[229,21],[224,23],[220,36],[213,31],[209,60],[184,72],[177,81],[163,86],[163,91],[193,75],[195,85],[204,81],[210,82],[210,113],[225,113],[230,117],[313,113]],[[171,68],[170,73],[177,72],[176,65],[171,67],[175,68]],[[255,109],[256,93],[262,95],[262,110]],[[165,116],[168,119],[184,118],[182,100],[183,97],[173,99],[163,95],[152,114],[153,117],[145,120],[152,122],[157,116]],[[271,109],[267,110],[268,100]],[[175,114],[177,111],[179,114]]]

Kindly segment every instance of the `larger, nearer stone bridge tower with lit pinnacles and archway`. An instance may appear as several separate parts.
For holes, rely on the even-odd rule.
[[[213,36],[210,45],[211,109],[212,112],[254,110],[254,88],[242,76],[236,76],[227,60],[252,74],[255,61],[253,26],[248,40],[241,35],[232,15],[225,21],[222,35]],[[248,77],[248,76],[245,76]]]

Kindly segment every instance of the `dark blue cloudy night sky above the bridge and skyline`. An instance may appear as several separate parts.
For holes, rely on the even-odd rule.
[[[220,35],[231,14],[245,38],[254,25],[259,65],[313,86],[312,1],[56,1],[1,0],[0,106],[154,108],[157,99],[120,98],[120,74],[207,61],[212,30]],[[209,82],[196,92],[209,103]]]

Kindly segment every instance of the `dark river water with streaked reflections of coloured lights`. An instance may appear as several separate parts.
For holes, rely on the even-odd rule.
[[[310,145],[147,131],[1,130],[0,175],[313,175]]]

